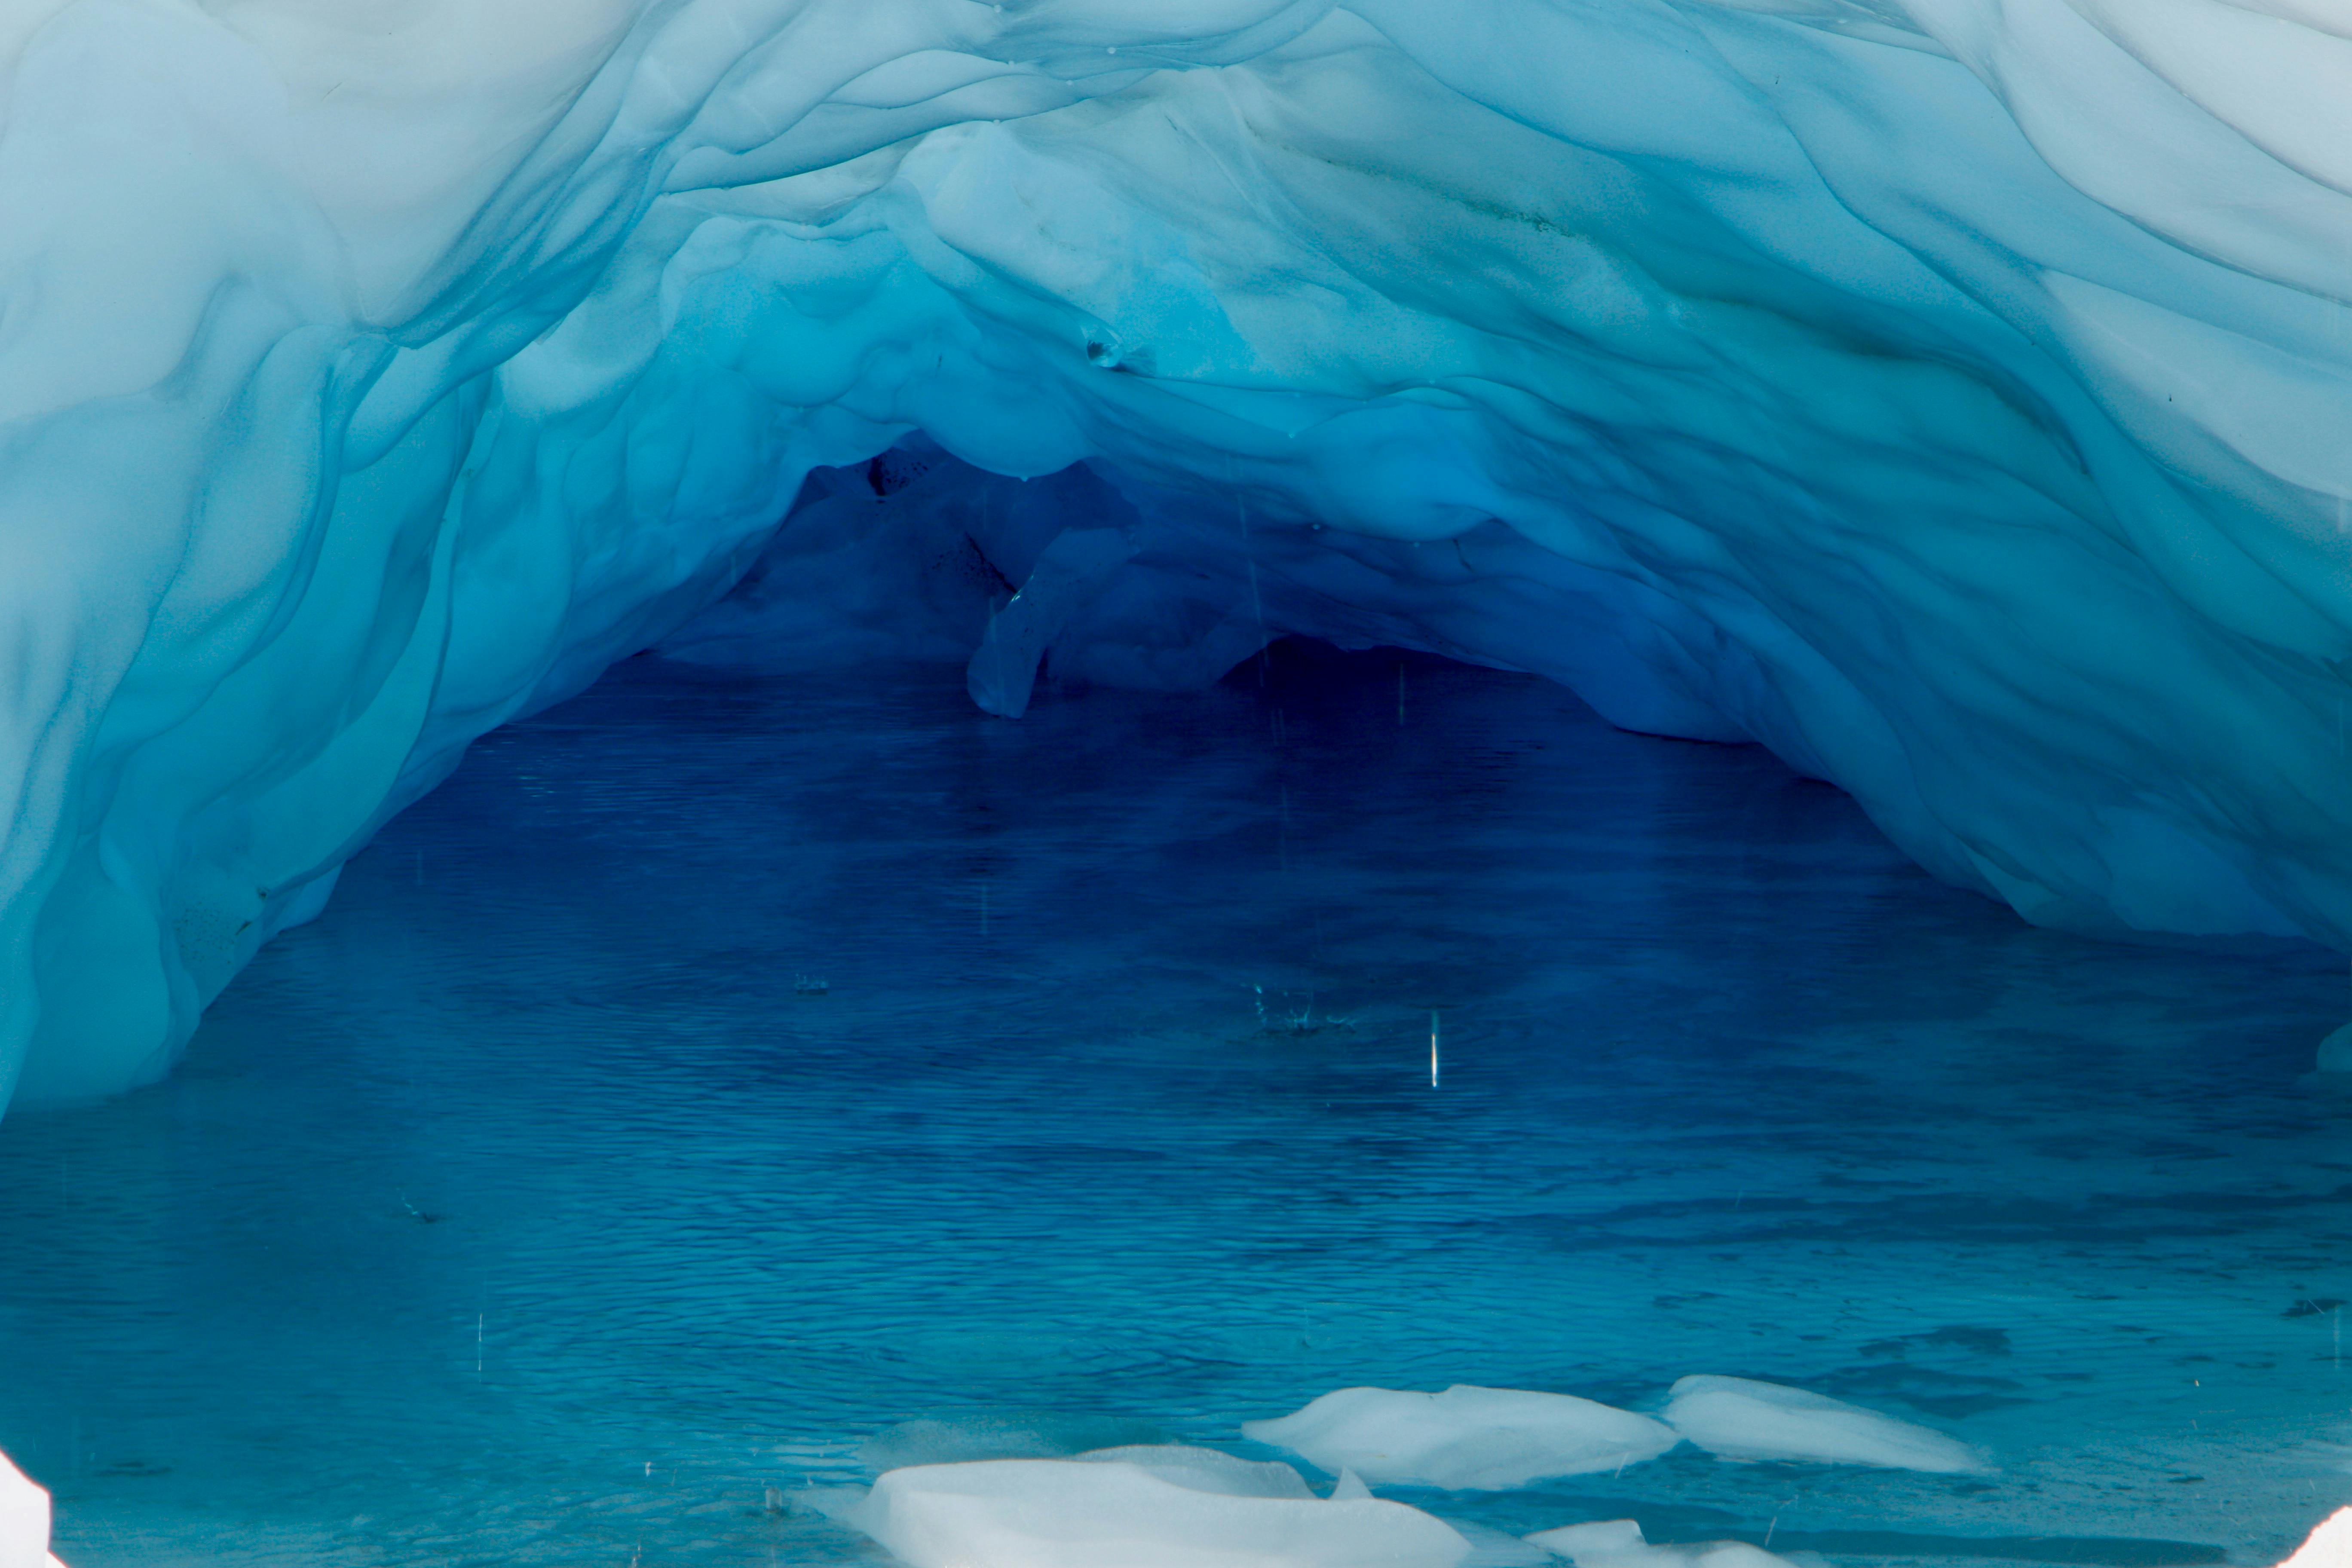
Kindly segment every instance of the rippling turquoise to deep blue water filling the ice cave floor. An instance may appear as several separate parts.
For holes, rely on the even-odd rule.
[[[2272,1561],[2352,1502],[2343,1009],[2331,954],[2030,931],[1526,677],[1284,649],[1004,724],[640,658],[169,1081],[0,1124],[0,1448],[73,1568],[863,1563],[793,1493],[1738,1373],[2002,1469],[1399,1495]]]

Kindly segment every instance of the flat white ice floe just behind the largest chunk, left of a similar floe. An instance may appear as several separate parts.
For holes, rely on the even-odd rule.
[[[1679,1441],[1646,1415],[1573,1394],[1463,1385],[1338,1389],[1282,1420],[1244,1422],[1242,1434],[1367,1481],[1479,1493],[1639,1465]]]

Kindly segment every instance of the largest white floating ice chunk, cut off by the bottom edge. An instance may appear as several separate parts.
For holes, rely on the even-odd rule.
[[[1235,1481],[1265,1486],[1232,1469],[1247,1460],[1148,1453],[894,1469],[837,1516],[910,1568],[1456,1568],[1470,1556],[1461,1533],[1402,1502],[1235,1493]]]

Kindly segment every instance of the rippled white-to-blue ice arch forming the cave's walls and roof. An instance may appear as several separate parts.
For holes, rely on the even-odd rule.
[[[1098,677],[1545,670],[2030,919],[2352,943],[2317,0],[35,0],[0,68],[0,1098],[162,1072],[915,430],[1091,463],[988,569]]]

